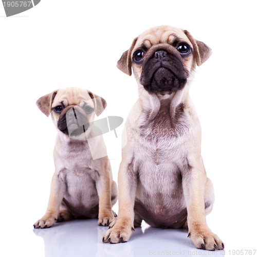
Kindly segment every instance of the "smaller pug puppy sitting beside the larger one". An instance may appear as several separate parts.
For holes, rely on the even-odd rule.
[[[108,226],[116,216],[112,207],[118,197],[117,185],[108,157],[93,159],[87,140],[94,137],[90,124],[95,114],[103,112],[106,101],[89,90],[70,87],[41,97],[36,105],[47,117],[51,114],[58,134],[48,207],[34,228],[97,217],[99,226]],[[105,149],[103,140],[96,142],[97,150]]]

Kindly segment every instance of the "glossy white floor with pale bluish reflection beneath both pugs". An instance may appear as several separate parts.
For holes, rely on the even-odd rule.
[[[187,237],[186,229],[159,229],[143,223],[136,228],[130,241],[120,244],[103,244],[107,227],[99,227],[97,219],[56,223],[48,229],[34,229],[45,244],[45,257],[86,256],[195,256],[206,255],[196,249]],[[224,251],[208,252],[208,255],[225,255]]]

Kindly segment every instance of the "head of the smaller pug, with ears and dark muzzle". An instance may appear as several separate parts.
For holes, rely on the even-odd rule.
[[[95,115],[99,116],[107,105],[103,98],[75,87],[53,91],[36,104],[46,116],[51,114],[62,137],[73,140],[86,139]]]

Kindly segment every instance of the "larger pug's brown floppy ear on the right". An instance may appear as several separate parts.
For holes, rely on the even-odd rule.
[[[193,45],[194,57],[196,59],[197,66],[200,66],[205,61],[209,59],[212,54],[211,48],[207,46],[205,43],[195,40],[193,36],[187,31],[184,30],[185,34],[187,35],[188,39]]]

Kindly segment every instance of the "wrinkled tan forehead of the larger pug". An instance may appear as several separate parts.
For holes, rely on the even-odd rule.
[[[160,43],[174,44],[174,42],[187,42],[191,45],[187,35],[180,28],[171,26],[159,26],[146,30],[138,36],[135,48],[142,45],[150,48],[153,45]]]

